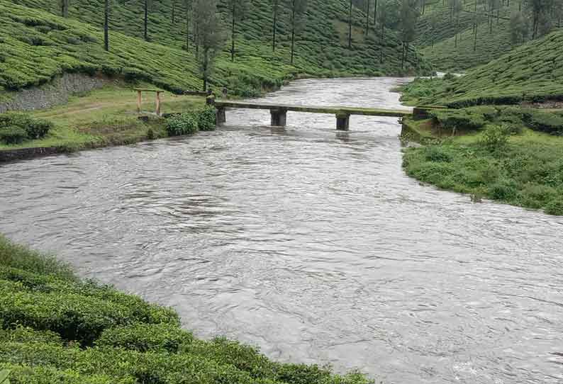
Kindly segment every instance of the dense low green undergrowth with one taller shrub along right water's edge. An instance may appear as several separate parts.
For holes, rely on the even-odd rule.
[[[512,142],[508,128],[498,125],[488,125],[481,137],[469,145],[445,141],[409,148],[403,167],[439,188],[563,215],[561,143]]]

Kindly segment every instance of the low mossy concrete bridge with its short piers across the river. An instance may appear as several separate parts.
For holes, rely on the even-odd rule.
[[[336,129],[350,129],[350,115],[364,116],[390,116],[394,118],[402,118],[406,115],[412,115],[412,111],[405,109],[379,109],[379,108],[353,108],[353,107],[325,107],[325,106],[291,106],[278,103],[259,103],[249,101],[230,101],[215,100],[208,98],[208,103],[217,108],[217,124],[226,122],[226,108],[246,108],[246,109],[267,109],[272,115],[271,123],[274,126],[285,127],[287,121],[287,111],[308,112],[308,113],[328,113],[336,116]]]

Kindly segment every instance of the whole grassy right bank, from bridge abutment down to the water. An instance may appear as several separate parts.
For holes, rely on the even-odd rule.
[[[438,188],[468,193],[474,201],[488,198],[563,215],[563,137],[533,130],[508,113],[489,120],[479,113],[468,115],[472,127],[459,117],[449,122],[405,120],[408,137],[424,143],[406,149],[406,173]]]

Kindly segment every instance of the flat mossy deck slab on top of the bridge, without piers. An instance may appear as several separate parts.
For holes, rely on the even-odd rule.
[[[331,113],[345,115],[367,115],[367,116],[389,116],[402,118],[411,115],[413,111],[406,109],[381,109],[381,108],[354,108],[344,106],[295,106],[278,103],[253,103],[250,101],[216,100],[217,108],[246,108],[246,109],[269,109],[309,113]]]

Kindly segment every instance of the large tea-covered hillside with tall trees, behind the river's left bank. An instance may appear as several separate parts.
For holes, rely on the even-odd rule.
[[[186,26],[182,2],[154,1],[149,13],[150,42],[143,37],[143,2],[113,2],[110,52],[103,50],[103,7],[85,0],[70,1],[69,17],[55,16],[55,1],[0,0],[0,91],[43,84],[62,72],[103,72],[126,79],[142,79],[171,91],[201,87],[194,52],[186,52]],[[298,74],[345,76],[398,74],[401,45],[396,34],[379,38],[362,32],[364,13],[355,9],[354,44],[347,48],[347,2],[309,1],[306,25],[296,41],[296,60],[289,65],[289,16],[279,15],[279,46],[272,54],[271,9],[265,0],[252,0],[240,23],[237,58],[228,52],[218,57],[212,82],[235,93],[253,94],[261,86],[279,86]],[[322,5],[322,6],[321,6]],[[224,1],[219,11],[228,25]],[[378,35],[379,36],[379,35]],[[380,49],[384,62],[379,64]],[[408,72],[428,72],[429,67],[410,52]],[[6,96],[4,96],[6,97]]]

